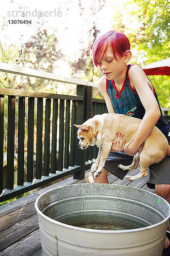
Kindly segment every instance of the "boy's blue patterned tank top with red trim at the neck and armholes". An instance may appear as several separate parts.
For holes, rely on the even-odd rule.
[[[124,79],[124,83],[120,90],[120,93],[117,92],[114,80],[108,80],[108,79],[106,79],[106,91],[110,96],[115,113],[124,114],[126,116],[133,116],[133,117],[142,119],[145,114],[145,109],[141,103],[138,93],[136,92],[136,90],[132,88],[130,84],[128,73],[131,66],[132,65],[127,66],[126,77]],[[158,106],[161,112],[161,116],[158,122],[156,123],[156,126],[165,135],[165,137],[168,140],[168,143],[170,144],[170,139],[168,137],[169,126],[164,121],[164,117],[159,105],[158,96],[156,94],[155,89],[153,93],[156,98],[156,101],[158,102]]]

